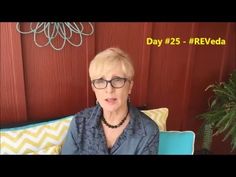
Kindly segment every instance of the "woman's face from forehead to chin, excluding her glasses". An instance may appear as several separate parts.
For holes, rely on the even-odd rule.
[[[114,78],[126,78],[121,66],[117,66],[102,77],[102,79],[108,81]],[[128,95],[131,94],[132,87],[133,81],[129,82],[128,80],[122,88],[113,88],[111,83],[108,83],[106,88],[96,89],[92,84],[97,101],[103,108],[103,111],[108,112],[116,112],[126,108]]]

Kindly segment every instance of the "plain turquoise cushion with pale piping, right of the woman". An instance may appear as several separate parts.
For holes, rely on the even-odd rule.
[[[159,152],[161,155],[192,155],[195,133],[193,131],[160,132]]]

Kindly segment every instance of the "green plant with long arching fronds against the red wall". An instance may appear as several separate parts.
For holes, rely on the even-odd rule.
[[[209,85],[212,89],[209,110],[199,117],[203,120],[199,132],[202,133],[202,149],[210,151],[212,137],[225,133],[223,141],[231,138],[232,151],[236,149],[236,70],[226,82]]]

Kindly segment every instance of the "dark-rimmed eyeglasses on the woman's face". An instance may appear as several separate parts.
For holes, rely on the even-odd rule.
[[[110,83],[113,88],[122,88],[125,85],[125,82],[129,81],[127,78],[114,78],[111,80],[105,80],[105,79],[95,79],[92,80],[92,84],[96,89],[105,89],[107,87],[107,84]]]

